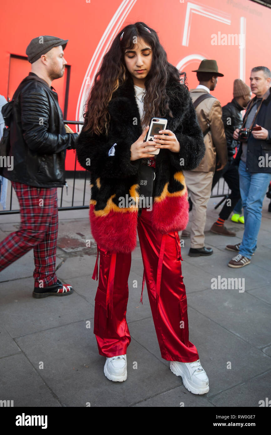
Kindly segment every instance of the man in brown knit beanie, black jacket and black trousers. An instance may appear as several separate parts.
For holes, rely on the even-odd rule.
[[[235,147],[237,146],[233,134],[234,130],[240,128],[242,125],[241,111],[248,105],[251,98],[251,90],[241,79],[236,79],[234,80],[233,96],[234,98],[231,102],[222,107],[222,120],[228,148],[228,163],[221,171],[215,171],[212,183],[213,190],[219,178],[223,177],[231,189],[231,193],[219,213],[219,218],[211,227],[212,233],[222,234],[224,236],[235,236],[233,231],[229,231],[224,227],[224,222],[228,219],[231,212],[234,210],[234,206],[240,199],[238,168],[233,164],[233,156],[235,154]]]

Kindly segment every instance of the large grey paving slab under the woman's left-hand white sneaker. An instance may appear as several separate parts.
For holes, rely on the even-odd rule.
[[[98,354],[93,324],[85,322],[17,338],[34,367],[44,362],[40,376],[64,406],[129,406],[180,384],[164,364],[136,341],[127,349],[128,377],[109,381],[105,358]],[[137,369],[133,369],[137,362]],[[26,406],[26,404],[25,404]]]

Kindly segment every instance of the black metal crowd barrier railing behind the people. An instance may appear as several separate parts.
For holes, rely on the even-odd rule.
[[[64,120],[64,124],[71,124],[71,125],[76,125],[77,126],[77,133],[79,132],[79,125],[83,125],[84,122],[83,121],[69,121],[69,120]],[[85,197],[86,197],[86,184],[87,184],[87,176],[88,176],[88,171],[84,170],[84,171],[77,171],[76,170],[76,166],[77,166],[77,156],[76,156],[76,150],[74,150],[75,153],[75,161],[74,161],[74,170],[73,171],[65,171],[65,178],[71,179],[72,180],[72,195],[71,195],[71,205],[67,206],[67,205],[63,205],[64,202],[64,189],[66,188],[66,186],[63,187],[58,187],[58,189],[61,190],[61,194],[60,194],[60,205],[58,207],[59,211],[64,211],[64,210],[81,210],[84,208],[88,208],[89,204],[85,205]],[[72,172],[72,177],[69,177],[68,175],[70,175],[70,172]],[[83,200],[82,200],[82,204],[81,205],[74,205],[74,195],[75,195],[75,184],[76,181],[75,180],[82,180],[83,179],[83,183],[84,183],[84,188],[83,188]],[[222,188],[221,188],[221,182],[223,182]],[[1,214],[16,214],[16,213],[20,213],[19,209],[16,210],[12,210],[12,194],[13,194],[13,188],[10,184],[10,208],[6,209],[6,210],[0,210],[0,215]],[[58,191],[59,194],[59,191]],[[90,194],[90,191],[89,191]],[[211,192],[211,198],[216,198],[216,197],[222,197],[221,201],[215,205],[215,209],[217,207],[219,207],[223,201],[225,201],[228,198],[228,194],[229,194],[229,188],[228,185],[225,184],[225,180],[223,178],[221,178],[217,185],[214,187],[214,189]]]

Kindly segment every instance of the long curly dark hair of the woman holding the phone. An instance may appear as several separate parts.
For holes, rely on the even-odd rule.
[[[123,32],[122,40],[120,40],[120,35]],[[120,30],[103,58],[86,102],[87,110],[83,117],[87,122],[85,122],[84,130],[91,130],[98,135],[104,132],[107,134],[110,122],[107,105],[117,88],[130,75],[125,64],[124,52],[126,49],[134,47],[133,41],[136,40],[134,37],[142,38],[152,49],[151,70],[144,83],[146,88],[145,114],[142,124],[147,125],[152,117],[163,117],[167,113],[173,117],[169,107],[170,99],[166,92],[167,80],[171,77],[171,80],[176,80],[176,83],[180,83],[181,80],[181,84],[187,86],[186,74],[177,70],[167,61],[167,54],[161,46],[155,30],[143,22],[137,22]]]

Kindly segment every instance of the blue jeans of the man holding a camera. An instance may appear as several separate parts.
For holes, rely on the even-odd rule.
[[[251,258],[257,248],[261,227],[261,209],[271,181],[271,174],[246,172],[246,164],[239,163],[240,193],[244,209],[244,235],[239,254]]]

